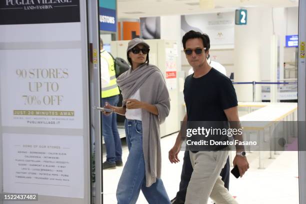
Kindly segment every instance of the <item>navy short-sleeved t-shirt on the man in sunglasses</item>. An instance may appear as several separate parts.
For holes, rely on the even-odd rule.
[[[238,105],[231,80],[214,68],[199,78],[186,77],[184,100],[187,121],[227,121],[224,109]]]

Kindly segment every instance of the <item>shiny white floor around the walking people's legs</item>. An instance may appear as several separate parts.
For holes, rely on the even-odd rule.
[[[183,158],[183,151],[179,153],[179,163],[171,164],[167,158],[176,134],[161,138],[162,180],[170,199],[178,190]],[[122,148],[124,162],[128,154],[124,142]],[[248,154],[250,168],[242,178],[237,179],[230,175],[230,193],[236,196],[240,204],[298,204],[297,152],[281,152],[275,159],[268,159],[268,152],[265,152],[264,157],[265,168],[258,169],[258,152]],[[103,171],[103,203],[116,203],[115,191],[122,168]],[[147,202],[140,192],[137,204],[145,203]]]

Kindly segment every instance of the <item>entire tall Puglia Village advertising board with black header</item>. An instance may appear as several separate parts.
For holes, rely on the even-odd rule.
[[[0,0],[0,193],[88,203],[86,3]]]

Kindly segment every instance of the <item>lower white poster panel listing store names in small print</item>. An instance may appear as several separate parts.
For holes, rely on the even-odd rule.
[[[4,133],[3,190],[83,197],[82,156],[82,136]]]

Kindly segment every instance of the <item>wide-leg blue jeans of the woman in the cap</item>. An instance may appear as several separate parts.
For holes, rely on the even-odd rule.
[[[118,204],[136,203],[140,189],[149,204],[169,204],[160,178],[156,178],[150,187],[145,186],[141,121],[125,119],[124,126],[129,153],[117,186]]]

